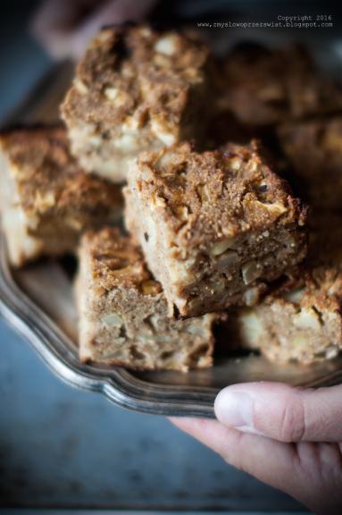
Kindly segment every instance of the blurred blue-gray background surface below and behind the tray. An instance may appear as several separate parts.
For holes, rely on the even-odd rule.
[[[26,30],[31,4],[1,2],[0,122],[52,64]],[[1,320],[0,401],[1,507],[301,509],[168,420],[62,384]]]

